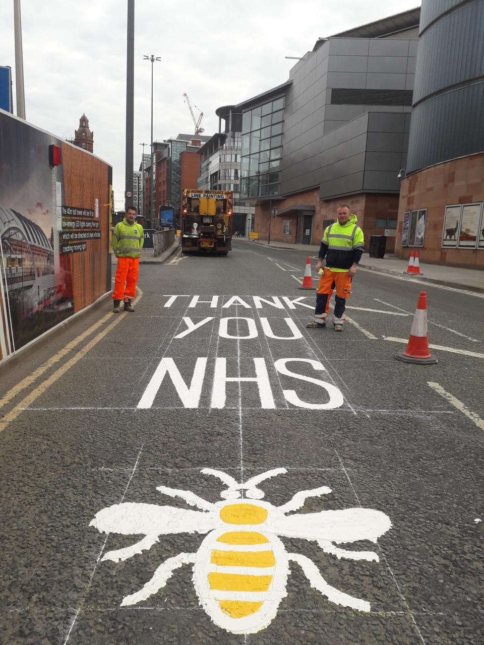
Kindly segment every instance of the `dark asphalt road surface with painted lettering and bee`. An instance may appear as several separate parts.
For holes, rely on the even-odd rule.
[[[484,642],[484,299],[358,270],[307,330],[305,260],[142,266],[1,373],[2,643]]]

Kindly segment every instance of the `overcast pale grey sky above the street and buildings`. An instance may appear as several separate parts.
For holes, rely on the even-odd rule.
[[[15,57],[13,2],[2,3],[0,65]],[[21,0],[27,121],[71,137],[85,112],[94,154],[113,166],[116,208],[124,204],[126,0]],[[150,141],[150,67],[154,139],[194,129],[182,94],[204,112],[283,83],[318,37],[419,6],[418,0],[137,0],[135,8],[134,166]],[[149,148],[145,148],[148,152]]]

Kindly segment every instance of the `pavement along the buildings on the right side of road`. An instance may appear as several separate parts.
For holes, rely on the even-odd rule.
[[[244,240],[249,242],[248,240]],[[273,241],[270,244],[267,240],[250,240],[250,244],[260,244],[270,248],[297,250],[308,253],[313,258],[318,257],[319,246],[315,244],[287,244],[284,242]],[[427,264],[420,261],[420,276],[408,275],[408,261],[401,260],[392,254],[386,254],[384,258],[369,257],[368,253],[363,253],[360,266],[370,271],[387,273],[391,275],[400,275],[409,277],[426,283],[443,284],[456,289],[465,289],[484,293],[484,271],[479,269],[466,269],[454,266],[442,266],[440,264]]]

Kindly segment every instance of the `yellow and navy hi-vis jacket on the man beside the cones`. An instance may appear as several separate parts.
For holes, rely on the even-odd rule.
[[[361,259],[363,252],[363,231],[357,226],[356,215],[350,215],[346,224],[336,221],[325,229],[321,240],[319,257],[326,257],[326,266],[330,271],[348,271],[352,264]]]

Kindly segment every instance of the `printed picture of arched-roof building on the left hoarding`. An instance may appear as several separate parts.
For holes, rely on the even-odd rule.
[[[57,204],[48,162],[52,143],[58,142],[15,119],[2,122],[0,249],[12,350],[74,312],[70,273],[58,250],[55,261]],[[61,166],[55,172],[62,181]]]

